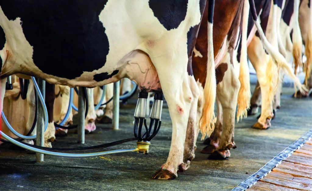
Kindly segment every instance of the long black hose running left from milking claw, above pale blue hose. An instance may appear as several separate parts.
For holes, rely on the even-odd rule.
[[[32,144],[28,144],[28,143],[23,143],[26,144],[28,146],[37,148],[37,149],[42,149],[42,150],[47,150],[47,151],[53,151],[53,152],[75,152],[75,151],[89,151],[89,150],[98,150],[98,149],[104,149],[107,147],[111,147],[117,144],[122,144],[125,142],[129,142],[129,141],[134,141],[134,140],[138,140],[137,138],[128,138],[128,139],[123,139],[123,140],[118,140],[118,141],[114,141],[111,143],[105,143],[105,144],[100,144],[100,145],[96,145],[96,146],[90,146],[90,147],[81,147],[81,148],[48,148],[48,147],[41,147],[41,146],[37,146],[37,145],[32,145]]]

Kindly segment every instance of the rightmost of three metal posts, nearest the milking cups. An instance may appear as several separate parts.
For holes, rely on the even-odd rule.
[[[119,129],[119,91],[120,83],[117,81],[114,83],[113,89],[113,130]]]

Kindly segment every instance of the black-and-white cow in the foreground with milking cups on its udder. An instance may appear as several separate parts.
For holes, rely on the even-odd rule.
[[[188,66],[205,4],[206,0],[1,1],[1,101],[5,78],[15,73],[71,87],[103,86],[127,77],[143,91],[162,91],[173,132],[167,162],[154,178],[173,179],[183,164],[189,114],[196,116],[199,91]],[[208,52],[213,55],[212,48]],[[214,65],[213,59],[207,63]],[[207,67],[204,135],[213,122],[213,65]]]

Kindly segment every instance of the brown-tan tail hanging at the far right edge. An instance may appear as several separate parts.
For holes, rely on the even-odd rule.
[[[310,7],[309,17],[310,17],[310,22],[309,22],[307,39],[305,42],[305,56],[307,57],[307,60],[305,61],[305,65],[304,65],[305,85],[308,85],[308,79],[311,75],[311,70],[312,70],[312,10],[311,10],[311,7]]]

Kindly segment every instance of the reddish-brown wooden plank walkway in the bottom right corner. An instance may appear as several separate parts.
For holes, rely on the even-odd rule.
[[[247,190],[312,190],[312,140]]]

